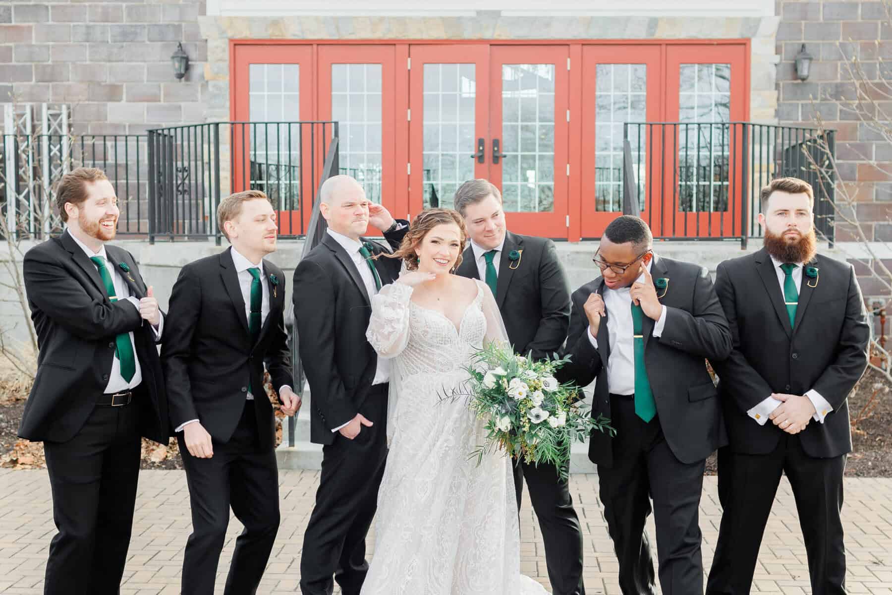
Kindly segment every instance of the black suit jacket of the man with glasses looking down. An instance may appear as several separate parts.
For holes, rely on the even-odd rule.
[[[657,403],[657,416],[666,442],[682,463],[706,459],[728,442],[721,406],[705,359],[719,360],[731,352],[731,330],[722,305],[715,295],[709,272],[695,264],[654,257],[650,274],[669,279],[660,302],[666,306],[663,334],[653,336],[654,320],[644,317],[644,358],[650,388]],[[598,331],[598,349],[589,340],[589,321],[582,306],[593,292],[604,292],[604,279],[582,285],[573,293],[573,313],[566,353],[572,363],[559,370],[562,382],[574,380],[580,386],[595,384],[592,415],[610,417],[610,387],[607,360],[610,338],[607,319]],[[609,316],[609,312],[608,312]],[[610,468],[613,442],[609,434],[594,432],[589,442],[589,459]]]

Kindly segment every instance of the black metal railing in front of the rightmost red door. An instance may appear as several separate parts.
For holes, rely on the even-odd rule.
[[[629,122],[624,184],[600,210],[623,211],[633,192],[640,216],[660,239],[716,240],[761,236],[759,190],[793,176],[814,186],[815,225],[833,241],[830,160],[834,131],[751,122]],[[807,154],[806,154],[807,153]],[[810,159],[811,158],[811,159]],[[824,177],[815,169],[826,168]],[[628,176],[633,179],[629,180]],[[634,202],[634,201],[632,201]]]

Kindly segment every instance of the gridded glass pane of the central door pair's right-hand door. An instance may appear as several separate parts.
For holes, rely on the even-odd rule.
[[[505,211],[554,211],[554,105],[554,64],[502,65]]]

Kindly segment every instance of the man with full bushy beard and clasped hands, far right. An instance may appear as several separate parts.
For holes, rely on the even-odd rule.
[[[785,473],[812,592],[845,593],[847,398],[867,367],[870,326],[855,269],[817,253],[812,186],[779,178],[760,198],[764,248],[724,261],[715,277],[734,349],[716,366],[730,443],[719,450],[723,515],[706,592],[749,592]]]

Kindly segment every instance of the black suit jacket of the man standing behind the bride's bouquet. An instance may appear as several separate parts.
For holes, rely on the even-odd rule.
[[[519,260],[510,260],[519,252]],[[457,275],[479,279],[474,249],[468,245]],[[508,232],[499,259],[496,303],[514,351],[544,359],[556,353],[570,324],[570,294],[558,251],[551,240]]]

